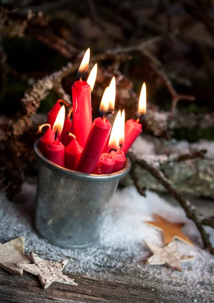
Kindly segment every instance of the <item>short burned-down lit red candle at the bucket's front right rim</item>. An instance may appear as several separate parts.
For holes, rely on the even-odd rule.
[[[121,150],[122,144],[124,142],[124,126],[125,126],[125,111],[123,110],[122,115],[121,115],[121,111],[118,112],[110,136],[109,151],[110,151],[110,155],[113,157],[113,159],[115,159],[115,165],[112,170],[113,173],[121,170],[126,162],[125,154],[123,150]]]

